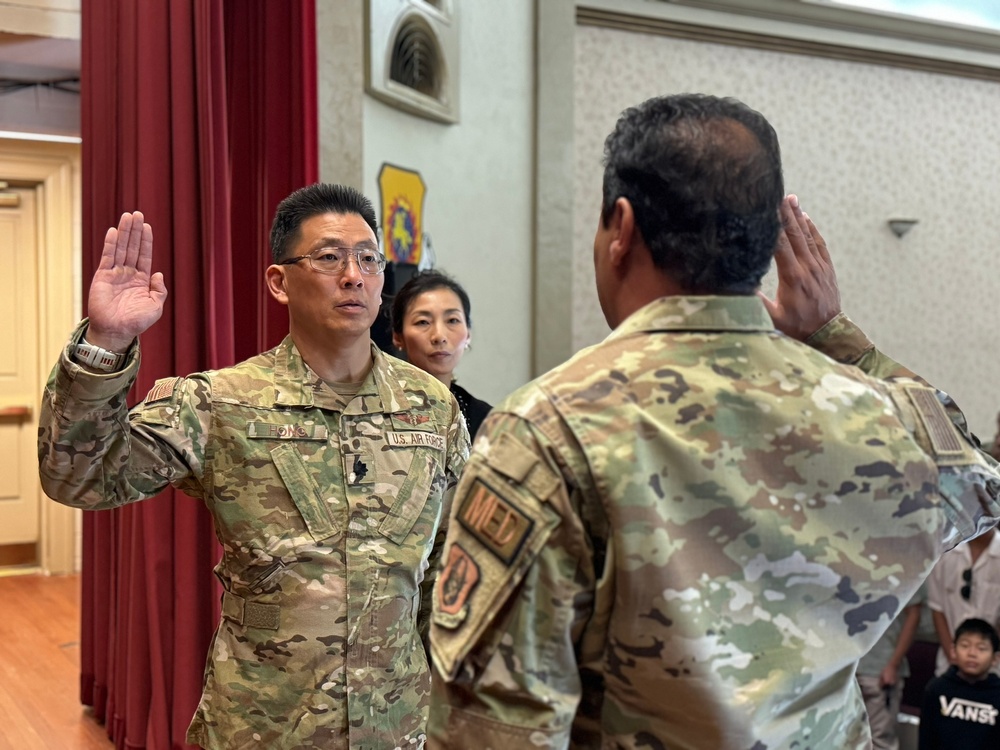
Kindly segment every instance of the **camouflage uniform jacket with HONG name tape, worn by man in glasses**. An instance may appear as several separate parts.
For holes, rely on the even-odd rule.
[[[286,338],[157,381],[126,417],[137,353],[101,375],[69,351],[43,399],[45,492],[101,509],[170,483],[215,520],[223,617],[188,741],[421,746],[432,579],[469,449],[447,388],[373,347],[344,403]]]

